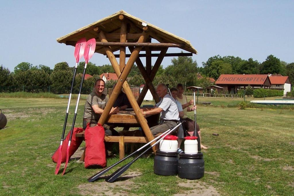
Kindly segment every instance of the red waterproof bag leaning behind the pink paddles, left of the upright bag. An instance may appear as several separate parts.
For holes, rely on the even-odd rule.
[[[74,128],[74,132],[73,132],[73,136],[71,137],[71,146],[69,147],[69,158],[71,158],[71,156],[76,152],[76,150],[78,150],[78,147],[81,145],[81,143],[83,142],[83,138],[82,137],[76,137],[77,133],[83,132],[84,129],[81,127],[78,128]],[[71,131],[69,131],[69,133],[67,134],[66,138],[64,139],[64,141],[62,142],[62,148],[61,148],[61,163],[65,163],[66,162],[66,149],[67,146],[69,145],[69,136],[71,134]],[[53,162],[57,163],[58,158],[59,158],[59,153],[58,153],[58,149],[54,152],[54,154],[52,155],[52,160]]]

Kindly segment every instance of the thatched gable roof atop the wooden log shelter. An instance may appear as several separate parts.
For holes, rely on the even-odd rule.
[[[94,28],[98,27],[99,29],[103,30],[105,33],[120,33],[121,21],[118,18],[119,15],[123,15],[128,20],[128,23],[130,24],[128,26],[129,28],[128,33],[137,34],[142,32],[142,28],[143,28],[142,22],[146,23],[146,21],[136,18],[135,16],[132,16],[126,13],[125,11],[121,10],[116,12],[115,14],[112,14],[101,20],[93,22],[92,24],[89,24],[81,29],[78,29],[65,36],[62,36],[56,40],[59,43],[64,43],[64,44],[72,45],[72,46],[75,46],[74,42],[78,41],[82,37],[85,37],[87,40],[91,38],[96,38],[96,41],[100,41],[98,39],[97,32],[94,31]],[[160,29],[157,26],[154,26],[149,23],[147,23],[147,27],[148,27],[149,36],[151,38],[156,39],[157,41],[161,43],[184,44],[184,46],[181,47],[181,49],[197,54],[196,49],[191,45],[190,41],[185,40],[181,37],[178,37],[168,31]],[[132,39],[128,39],[127,41],[136,42],[136,40],[132,40]],[[119,40],[108,39],[108,42],[119,42]],[[119,46],[116,46],[116,47],[112,46],[111,48],[113,51],[119,50]],[[105,54],[103,46],[97,46],[95,52]]]

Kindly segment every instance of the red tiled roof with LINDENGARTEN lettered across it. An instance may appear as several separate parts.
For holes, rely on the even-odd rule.
[[[221,74],[216,84],[264,84],[267,74]]]

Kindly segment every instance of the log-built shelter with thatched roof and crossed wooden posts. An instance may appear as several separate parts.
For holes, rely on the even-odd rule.
[[[57,41],[75,46],[76,41],[82,37],[85,37],[87,40],[96,39],[95,52],[108,57],[119,78],[113,93],[109,97],[108,104],[99,119],[99,123],[102,125],[106,123],[111,107],[123,87],[136,114],[137,121],[140,123],[148,141],[151,141],[154,137],[139,106],[143,102],[148,89],[150,89],[155,102],[159,102],[159,97],[156,94],[152,81],[161,65],[163,57],[192,56],[192,54],[197,54],[196,49],[189,41],[138,19],[123,10],[62,36]],[[130,54],[126,54],[126,47],[128,47]],[[169,47],[180,48],[188,53],[167,53]],[[119,51],[119,54],[114,54],[116,51]],[[140,53],[143,51],[145,53]],[[146,57],[146,69],[140,57]],[[151,57],[158,57],[154,64],[151,62]],[[116,58],[119,58],[119,62]],[[126,58],[129,58],[127,62]],[[135,62],[146,82],[137,101],[126,81]]]

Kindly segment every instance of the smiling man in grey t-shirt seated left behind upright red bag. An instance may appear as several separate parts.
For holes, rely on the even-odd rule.
[[[102,94],[105,88],[105,82],[103,79],[98,79],[95,82],[95,91],[88,95],[85,110],[83,115],[83,128],[86,129],[86,125],[90,123],[90,127],[97,125],[99,118],[108,102],[108,97]],[[112,107],[110,114],[116,114],[119,111],[117,107]],[[108,133],[109,132],[109,133]],[[110,130],[105,130],[106,135],[111,135]]]

